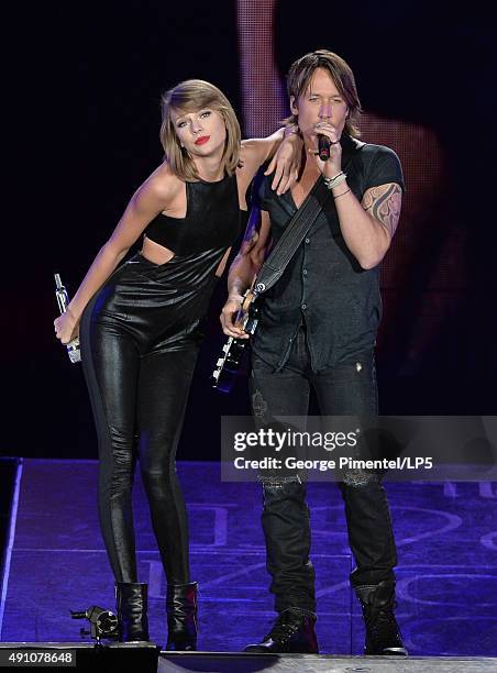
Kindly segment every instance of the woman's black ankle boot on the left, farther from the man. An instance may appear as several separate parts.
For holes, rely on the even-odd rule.
[[[119,640],[148,640],[146,584],[118,582],[115,585]]]

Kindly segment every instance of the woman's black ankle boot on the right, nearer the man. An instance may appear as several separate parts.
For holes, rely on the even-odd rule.
[[[197,650],[197,582],[167,586],[166,650]]]

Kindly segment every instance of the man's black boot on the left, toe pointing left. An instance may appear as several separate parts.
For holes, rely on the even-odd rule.
[[[289,608],[280,613],[262,642],[247,646],[243,651],[318,654],[314,622],[316,617]]]

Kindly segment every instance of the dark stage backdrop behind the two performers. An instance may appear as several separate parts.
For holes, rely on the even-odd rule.
[[[12,196],[14,216],[4,223],[12,242],[2,284],[3,454],[96,457],[81,368],[54,340],[53,273],[75,291],[128,199],[162,161],[164,89],[203,78],[228,95],[240,119],[244,103],[275,113],[274,87],[262,88],[256,102],[246,89],[263,75],[251,49],[270,54],[273,45],[280,73],[320,46],[343,55],[356,75],[366,128],[382,137],[385,129],[396,130],[399,143],[410,139],[391,145],[412,150],[402,155],[412,179],[407,219],[385,263],[382,412],[496,413],[489,16],[474,2],[464,10],[427,0],[357,0],[353,10],[350,3],[279,2],[268,44],[263,33],[270,7],[262,0],[54,3],[20,16],[11,54],[19,197]],[[252,107],[246,133],[268,119]],[[364,140],[375,142],[366,132]],[[223,293],[222,284],[206,326],[183,460],[216,460],[220,416],[248,412],[243,379],[229,398],[208,384],[222,342],[217,316]]]

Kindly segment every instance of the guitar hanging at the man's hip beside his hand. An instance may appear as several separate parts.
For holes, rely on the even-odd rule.
[[[243,296],[242,306],[236,315],[235,324],[253,336],[257,329],[259,309],[255,305],[255,299],[258,293],[253,287],[246,290]],[[250,339],[235,339],[230,336],[227,343],[222,346],[222,355],[216,363],[216,369],[212,373],[212,387],[220,393],[231,393],[235,376],[240,371],[243,362],[243,356],[247,351]]]

